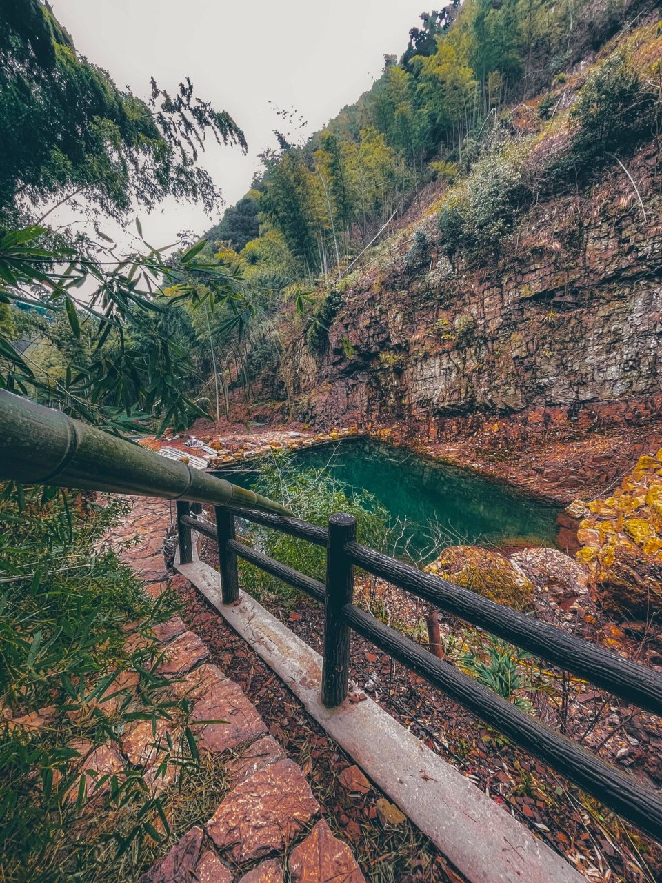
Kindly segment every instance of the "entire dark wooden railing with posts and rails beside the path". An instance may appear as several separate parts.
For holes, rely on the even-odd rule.
[[[325,706],[340,706],[347,697],[350,631],[354,630],[623,819],[662,842],[662,796],[657,789],[646,788],[631,774],[606,764],[591,751],[545,727],[469,675],[357,608],[353,603],[354,567],[367,570],[467,623],[505,638],[628,704],[662,715],[662,677],[656,672],[362,546],[356,540],[356,520],[349,515],[332,516],[328,530],[297,518],[229,506],[216,507],[215,516],[216,524],[212,525],[199,513],[192,513],[188,503],[177,502],[180,561],[192,561],[191,532],[194,530],[218,543],[223,604],[235,603],[239,597],[238,558],[323,603],[325,630],[320,689]],[[237,517],[327,547],[326,585],[238,541]]]

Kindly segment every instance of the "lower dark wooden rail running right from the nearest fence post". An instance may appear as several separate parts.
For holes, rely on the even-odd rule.
[[[545,727],[505,699],[463,675],[448,662],[379,623],[353,604],[342,608],[350,627],[384,653],[468,708],[482,721],[498,729],[557,773],[587,791],[658,841],[662,841],[662,797],[640,785],[634,776],[608,766],[585,748]]]

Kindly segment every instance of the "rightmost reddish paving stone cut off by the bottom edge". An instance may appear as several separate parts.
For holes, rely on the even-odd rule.
[[[350,847],[320,821],[290,853],[292,883],[365,883]]]

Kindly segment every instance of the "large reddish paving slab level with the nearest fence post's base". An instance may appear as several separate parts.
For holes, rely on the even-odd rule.
[[[267,732],[267,725],[244,691],[227,678],[215,683],[193,706],[191,728],[200,751],[228,751]]]

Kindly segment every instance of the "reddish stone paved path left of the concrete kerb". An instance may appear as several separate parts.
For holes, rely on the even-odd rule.
[[[168,580],[162,540],[171,525],[169,504],[131,502],[132,513],[114,540],[140,534],[140,544],[121,549],[120,556],[157,594]],[[139,883],[365,883],[350,847],[320,820],[320,804],[301,767],[266,735],[265,722],[238,684],[209,664],[207,646],[177,617],[155,630],[155,637],[163,657],[159,674],[177,678],[169,690],[191,700],[199,751],[218,755],[231,788],[206,826],[186,832]],[[108,750],[112,756],[88,755],[86,763],[117,767],[124,754],[143,766],[148,782],[151,775],[155,789],[168,787],[177,767],[163,773],[160,747],[176,736],[171,730],[168,721],[159,721],[154,739],[151,722],[138,721],[119,750]]]

